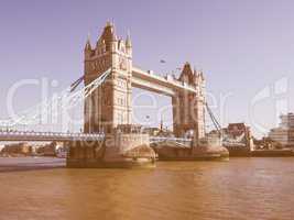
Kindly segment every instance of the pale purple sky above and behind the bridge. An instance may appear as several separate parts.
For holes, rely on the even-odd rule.
[[[0,0],[0,118],[15,82],[45,77],[57,80],[54,92],[80,77],[87,35],[95,44],[113,21],[119,36],[131,34],[135,66],[164,76],[189,62],[204,72],[222,125],[246,122],[264,135],[280,113],[294,111],[293,8],[291,0]],[[25,109],[40,94],[40,86],[25,86],[13,102]],[[154,96],[155,108],[134,108],[137,121],[159,123],[171,99]],[[162,118],[171,125],[171,109]]]

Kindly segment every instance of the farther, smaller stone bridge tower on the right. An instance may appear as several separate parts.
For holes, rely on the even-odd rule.
[[[196,89],[177,91],[172,98],[173,122],[176,136],[184,136],[193,131],[194,138],[205,136],[205,79],[202,72],[192,70],[186,63],[178,78],[183,85],[189,85]]]

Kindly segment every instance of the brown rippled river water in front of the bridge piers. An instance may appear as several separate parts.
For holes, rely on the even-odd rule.
[[[61,165],[0,158],[0,219],[294,219],[294,157],[159,162],[154,169]]]

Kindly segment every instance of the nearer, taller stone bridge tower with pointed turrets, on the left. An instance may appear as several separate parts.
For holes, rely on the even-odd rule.
[[[110,133],[118,124],[130,124],[132,118],[132,45],[130,36],[118,38],[110,22],[96,46],[85,46],[85,86],[111,68],[111,74],[85,100],[84,132]]]

